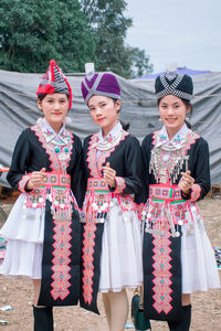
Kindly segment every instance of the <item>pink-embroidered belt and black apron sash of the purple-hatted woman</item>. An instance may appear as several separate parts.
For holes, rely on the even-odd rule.
[[[103,178],[90,178],[83,206],[82,248],[82,293],[81,306],[98,313],[96,298],[99,285],[99,260],[104,222],[108,216],[113,200],[116,199],[122,211],[136,210],[129,194],[113,193]]]

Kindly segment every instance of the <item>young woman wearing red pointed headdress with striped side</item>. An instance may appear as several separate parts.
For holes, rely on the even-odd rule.
[[[1,228],[8,244],[0,273],[33,279],[34,331],[52,331],[52,307],[80,297],[84,177],[81,140],[65,128],[72,89],[53,60],[36,95],[44,117],[19,137],[8,173],[21,194]]]

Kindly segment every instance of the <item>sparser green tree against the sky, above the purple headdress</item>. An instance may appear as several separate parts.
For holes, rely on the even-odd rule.
[[[150,73],[152,65],[144,50],[125,44],[127,29],[133,20],[124,12],[124,0],[81,0],[96,40],[96,70],[110,70],[126,78]]]

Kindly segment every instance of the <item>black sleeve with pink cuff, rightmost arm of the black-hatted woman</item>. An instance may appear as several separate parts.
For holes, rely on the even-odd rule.
[[[190,171],[194,179],[194,184],[189,196],[183,197],[191,201],[202,200],[210,191],[210,162],[209,162],[209,147],[208,142],[200,138],[190,156]]]

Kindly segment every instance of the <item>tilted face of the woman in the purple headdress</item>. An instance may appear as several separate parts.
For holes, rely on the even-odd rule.
[[[120,102],[115,103],[109,97],[94,95],[88,100],[88,108],[94,122],[108,134],[118,121],[117,113],[120,109]]]

